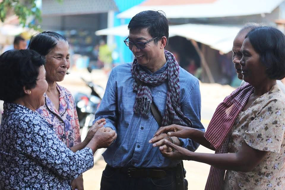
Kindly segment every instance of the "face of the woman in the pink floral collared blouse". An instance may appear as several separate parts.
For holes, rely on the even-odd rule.
[[[64,79],[70,66],[68,50],[68,43],[59,41],[56,47],[45,56],[45,70],[48,82],[59,82]]]

